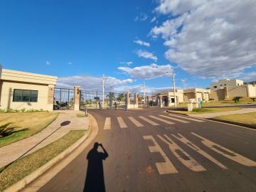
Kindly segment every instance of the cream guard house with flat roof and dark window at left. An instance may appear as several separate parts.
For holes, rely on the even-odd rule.
[[[57,77],[2,69],[0,65],[0,109],[53,110]]]

